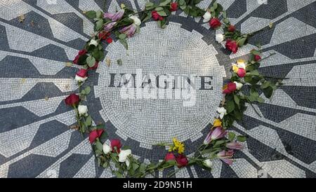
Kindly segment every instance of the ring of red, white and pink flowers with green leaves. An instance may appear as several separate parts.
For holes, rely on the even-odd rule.
[[[110,140],[110,145],[105,143],[107,132],[104,125],[93,125],[93,119],[88,115],[88,107],[83,104],[91,88],[88,86],[82,88],[82,85],[88,78],[88,71],[97,69],[99,62],[105,60],[103,43],[112,43],[111,34],[128,49],[126,39],[140,31],[142,22],[152,18],[157,21],[159,27],[165,28],[167,18],[178,8],[192,17],[203,17],[203,22],[209,22],[212,29],[223,29],[223,34],[216,34],[216,41],[218,43],[226,41],[225,48],[232,53],[237,53],[238,48],[246,45],[249,37],[255,34],[239,32],[234,25],[230,24],[223,6],[215,0],[206,11],[197,7],[200,1],[202,0],[161,0],[159,4],[147,2],[145,9],[138,13],[124,4],[121,4],[121,9],[117,13],[85,12],[86,16],[95,22],[95,33],[73,61],[74,64],[82,66],[75,76],[79,85],[79,94],[71,94],[65,99],[65,103],[74,108],[77,130],[82,134],[89,134],[88,139],[98,165],[104,168],[110,167],[112,174],[117,177],[145,177],[147,174],[154,175],[154,172],[174,166],[180,170],[183,167],[198,165],[205,170],[211,170],[214,159],[223,160],[231,165],[234,150],[242,149],[240,142],[246,141],[246,136],[236,137],[234,132],[228,132],[227,129],[231,128],[235,121],[242,120],[246,103],[251,105],[254,102],[264,102],[259,92],[263,92],[265,97],[270,98],[277,85],[281,85],[279,79],[259,73],[259,61],[263,60],[260,56],[261,52],[251,50],[248,61],[237,60],[232,64],[232,76],[230,82],[223,87],[225,97],[217,109],[218,118],[213,121],[209,134],[192,156],[185,156],[185,145],[176,138],[173,138],[171,144],[158,144],[169,146],[169,152],[160,163],[140,162],[132,156],[132,151],[128,146],[122,147],[119,139]],[[242,89],[243,87],[246,89]],[[115,167],[112,167],[113,163]],[[169,177],[175,173],[171,172]]]

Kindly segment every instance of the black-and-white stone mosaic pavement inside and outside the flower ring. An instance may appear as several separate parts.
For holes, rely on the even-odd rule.
[[[202,1],[206,8],[211,0]],[[154,22],[141,33],[107,46],[112,60],[102,64],[87,82],[93,91],[88,107],[95,123],[105,123],[111,138],[132,146],[143,160],[162,159],[165,149],[154,146],[174,136],[185,141],[187,153],[203,141],[222,95],[231,62],[246,57],[257,42],[263,55],[276,53],[261,64],[268,76],[288,78],[271,100],[247,109],[235,123],[237,135],[247,135],[245,149],[232,166],[219,160],[213,172],[189,167],[176,177],[316,177],[316,1],[218,0],[242,32],[274,22],[235,55],[214,41],[215,32],[202,20],[177,11],[167,29]],[[0,1],[0,177],[113,177],[96,166],[88,139],[70,130],[75,119],[62,100],[77,90],[77,68],[66,67],[84,46],[93,23],[83,11],[124,3],[136,10],[145,0],[2,0]],[[19,22],[19,15],[25,21]],[[218,32],[219,33],[219,32]],[[145,45],[145,46],[144,46]],[[187,74],[209,76],[197,81],[195,106],[185,99],[122,100],[117,76],[110,74]],[[211,76],[211,77],[210,77]],[[211,81],[210,81],[211,79]],[[202,83],[204,82],[204,83]],[[113,83],[113,84],[112,84]],[[264,96],[263,96],[264,97]],[[165,177],[166,172],[157,173]]]

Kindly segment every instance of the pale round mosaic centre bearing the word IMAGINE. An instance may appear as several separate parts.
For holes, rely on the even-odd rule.
[[[213,121],[225,70],[201,36],[176,22],[168,30],[148,22],[129,50],[119,42],[107,47],[107,57],[123,64],[98,69],[96,96],[117,135],[150,147],[173,137],[195,140]]]

